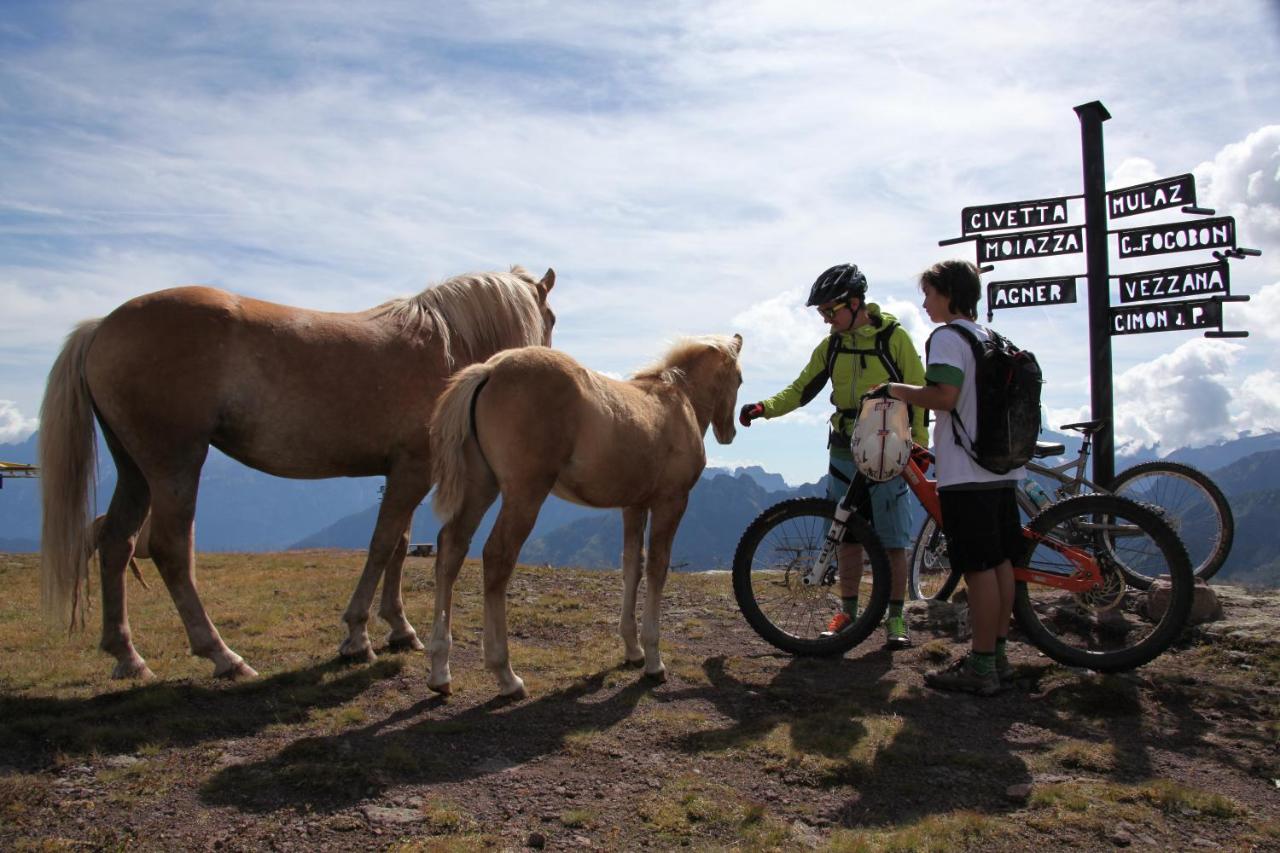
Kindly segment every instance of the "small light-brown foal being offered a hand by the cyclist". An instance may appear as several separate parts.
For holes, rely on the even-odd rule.
[[[507,653],[507,581],[548,494],[622,507],[622,620],[631,663],[662,680],[658,613],[671,542],[689,491],[707,465],[703,437],[733,441],[742,373],[740,336],[692,338],[620,382],[541,347],[515,350],[460,371],[431,420],[435,512],[445,521],[435,560],[435,625],[428,686],[451,692],[453,583],[476,525],[502,494],[484,546],[484,660],[503,695],[525,695]],[[649,526],[648,558],[641,539]],[[648,592],[636,642],[636,588]],[[641,652],[641,644],[644,651]]]

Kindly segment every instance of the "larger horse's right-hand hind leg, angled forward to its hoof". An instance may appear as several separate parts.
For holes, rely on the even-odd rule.
[[[214,678],[237,679],[256,676],[244,660],[227,648],[214,622],[209,619],[196,592],[196,555],[193,532],[196,521],[196,476],[170,480],[151,489],[151,558],[160,578],[169,588],[191,653],[207,657],[214,663]],[[123,574],[123,566],[122,566]]]

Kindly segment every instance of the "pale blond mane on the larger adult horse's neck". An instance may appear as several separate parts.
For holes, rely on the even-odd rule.
[[[543,315],[536,284],[524,266],[509,273],[466,273],[434,284],[416,296],[383,302],[370,319],[390,319],[404,329],[429,330],[444,345],[452,368],[460,356],[486,357],[499,350],[543,342]]]

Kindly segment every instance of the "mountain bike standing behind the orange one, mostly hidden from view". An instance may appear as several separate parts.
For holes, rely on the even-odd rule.
[[[1042,502],[1062,500],[1084,491],[1120,494],[1142,503],[1158,507],[1174,532],[1187,547],[1192,561],[1192,571],[1202,580],[1212,578],[1231,552],[1235,538],[1235,519],[1226,496],[1203,471],[1181,462],[1142,462],[1116,474],[1111,488],[1100,488],[1084,478],[1084,466],[1089,459],[1093,435],[1105,425],[1101,420],[1087,420],[1079,424],[1066,424],[1062,429],[1078,430],[1082,434],[1080,451],[1075,459],[1057,466],[1028,462],[1027,471],[1036,478],[1028,478],[1030,489],[1018,491],[1018,505],[1024,515],[1034,516],[1042,503],[1029,492],[1039,491]],[[1061,456],[1066,452],[1062,444],[1037,442],[1036,457]],[[1034,485],[1032,485],[1034,483]],[[1046,494],[1042,484],[1052,488]],[[1129,570],[1129,583],[1135,587],[1149,587],[1155,580]],[[911,598],[934,598],[946,601],[960,581],[959,574],[952,574],[947,560],[946,538],[931,517],[920,525],[911,549],[909,589]]]

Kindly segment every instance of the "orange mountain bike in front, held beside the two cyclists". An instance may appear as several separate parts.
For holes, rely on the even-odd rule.
[[[942,517],[937,483],[925,478],[928,450],[915,446],[902,471],[929,517]],[[792,654],[840,654],[867,639],[888,603],[890,567],[872,526],[855,511],[867,479],[854,478],[838,502],[795,498],[764,510],[733,555],[733,596],[746,621]],[[1155,510],[1116,494],[1080,494],[1051,503],[1023,528],[1014,566],[1014,619],[1048,657],[1100,672],[1140,666],[1165,651],[1187,622],[1196,583],[1172,528]],[[828,631],[840,612],[836,551],[856,542],[870,571],[851,625]],[[1167,575],[1169,601],[1149,613],[1130,573]]]

